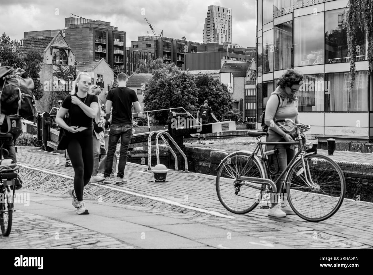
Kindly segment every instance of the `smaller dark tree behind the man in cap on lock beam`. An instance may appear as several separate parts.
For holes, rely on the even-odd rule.
[[[203,105],[205,100],[209,101],[213,114],[219,120],[232,109],[233,104],[226,84],[206,74],[196,77],[195,84],[198,88],[197,108]]]

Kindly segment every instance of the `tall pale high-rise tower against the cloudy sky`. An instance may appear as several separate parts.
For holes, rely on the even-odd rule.
[[[232,43],[232,9],[208,6],[203,30],[203,43]]]

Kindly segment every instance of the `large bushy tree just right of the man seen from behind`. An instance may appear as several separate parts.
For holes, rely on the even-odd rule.
[[[197,112],[198,88],[193,76],[177,67],[169,72],[167,68],[153,71],[153,76],[145,84],[144,109],[157,110],[166,108],[183,107],[189,112]],[[182,109],[176,110],[181,112]],[[166,124],[169,111],[150,113],[160,124]]]

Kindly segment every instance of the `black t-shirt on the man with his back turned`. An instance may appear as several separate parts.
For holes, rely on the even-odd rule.
[[[107,100],[113,103],[112,124],[132,124],[132,103],[138,101],[134,90],[115,87],[107,93]]]

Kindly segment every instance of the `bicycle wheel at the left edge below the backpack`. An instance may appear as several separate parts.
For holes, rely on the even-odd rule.
[[[0,227],[4,236],[9,236],[12,229],[13,192],[8,186],[0,187]]]

